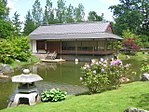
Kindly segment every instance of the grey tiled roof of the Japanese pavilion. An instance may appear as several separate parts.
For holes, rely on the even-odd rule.
[[[110,23],[90,22],[39,26],[30,34],[30,39],[89,39],[120,37],[107,32]]]

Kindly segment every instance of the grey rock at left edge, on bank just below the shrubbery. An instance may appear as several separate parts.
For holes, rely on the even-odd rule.
[[[9,74],[14,72],[14,69],[7,64],[0,64],[0,73]]]

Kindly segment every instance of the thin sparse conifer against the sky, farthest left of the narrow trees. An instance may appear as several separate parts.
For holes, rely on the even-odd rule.
[[[13,19],[12,19],[12,23],[14,25],[15,28],[15,32],[20,35],[21,34],[21,24],[22,22],[19,20],[19,14],[17,14],[17,12],[14,13]]]

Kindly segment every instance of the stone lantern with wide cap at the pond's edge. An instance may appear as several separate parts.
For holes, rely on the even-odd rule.
[[[39,75],[30,73],[29,69],[24,69],[21,75],[13,76],[12,82],[19,83],[17,93],[8,107],[15,107],[19,104],[34,105],[39,100],[39,93],[35,86],[36,81],[43,80]]]

